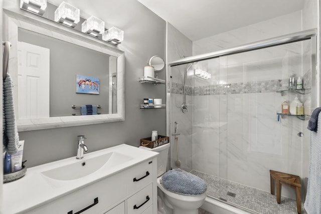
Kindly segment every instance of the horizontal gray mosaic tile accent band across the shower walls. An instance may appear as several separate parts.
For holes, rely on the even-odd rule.
[[[276,92],[280,88],[286,88],[288,79],[266,80],[246,83],[232,83],[206,86],[186,86],[186,95],[219,95],[219,94],[245,94],[245,93],[267,93]],[[172,83],[173,94],[183,94],[183,84]]]

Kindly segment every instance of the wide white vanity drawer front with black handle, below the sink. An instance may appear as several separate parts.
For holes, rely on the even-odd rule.
[[[103,213],[125,199],[126,187],[119,185],[125,182],[124,176],[125,172],[112,175],[27,213],[68,214],[71,210],[76,213],[90,205],[82,214]]]

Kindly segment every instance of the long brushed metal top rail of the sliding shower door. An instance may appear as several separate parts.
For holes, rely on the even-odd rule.
[[[283,36],[274,37],[271,39],[266,39],[266,40],[261,40],[253,43],[248,43],[245,45],[235,46],[235,47],[223,49],[220,51],[214,51],[207,54],[200,54],[197,56],[186,57],[184,59],[171,62],[169,63],[169,65],[173,67],[177,65],[183,65],[183,64],[193,63],[193,62],[202,61],[202,60],[208,60],[208,59],[226,56],[226,55],[248,52],[248,51],[253,51],[257,49],[283,45],[283,44],[292,43],[292,42],[298,42],[302,40],[309,40],[311,37],[315,37],[315,36],[316,36],[316,29],[313,28],[305,31],[300,31],[292,34],[286,34]]]

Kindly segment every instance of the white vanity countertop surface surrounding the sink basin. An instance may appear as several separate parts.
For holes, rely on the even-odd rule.
[[[119,164],[112,164],[108,167],[102,166],[96,171],[77,179],[56,180],[43,174],[43,172],[55,169],[57,167],[74,163],[77,164],[78,162],[81,164],[86,160],[110,152],[125,155],[129,158],[128,160],[122,161]],[[24,177],[3,185],[3,211],[4,213],[24,213],[26,211],[30,211],[36,207],[81,189],[84,186],[88,186],[89,184],[129,168],[134,164],[153,158],[156,155],[158,155],[157,152],[121,144],[95,152],[86,153],[84,158],[80,160],[76,159],[76,157],[70,157],[28,168]]]

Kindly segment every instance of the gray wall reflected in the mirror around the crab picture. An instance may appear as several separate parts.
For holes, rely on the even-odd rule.
[[[100,105],[98,112],[108,114],[109,55],[24,29],[18,41],[50,49],[51,117],[80,114],[72,105]],[[98,78],[99,94],[76,93],[76,75]]]

